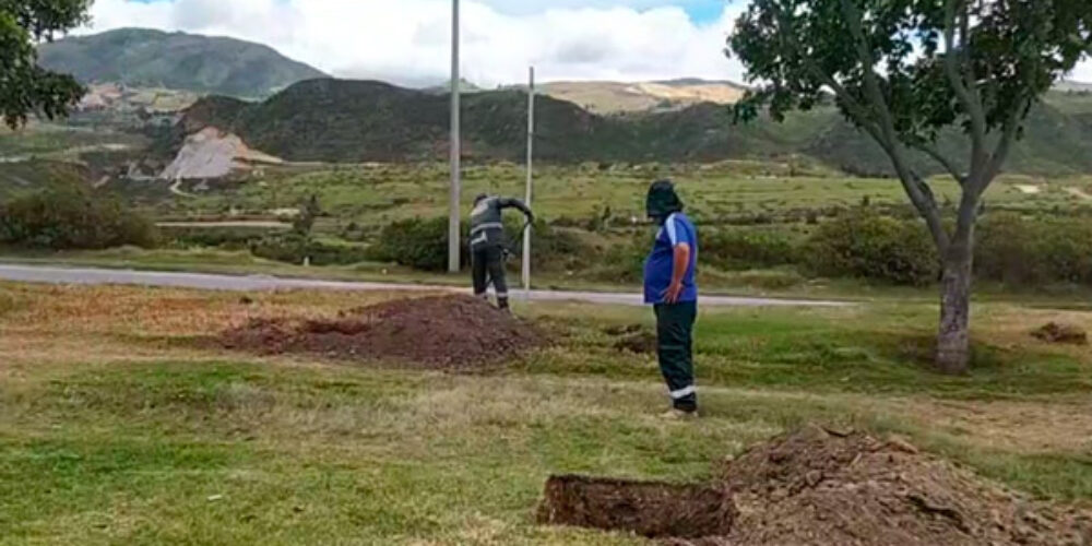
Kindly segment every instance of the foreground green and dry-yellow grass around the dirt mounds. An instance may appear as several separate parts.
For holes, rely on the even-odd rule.
[[[536,525],[545,478],[705,479],[811,420],[1092,503],[1092,357],[1028,335],[1088,311],[982,304],[973,371],[950,378],[922,358],[927,304],[705,309],[690,424],[657,417],[654,359],[604,333],[645,310],[521,307],[559,344],[464,376],[206,343],[392,295],[250,296],[0,284],[0,544],[643,544]]]

